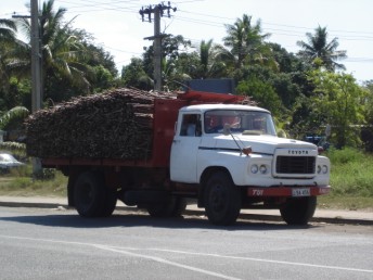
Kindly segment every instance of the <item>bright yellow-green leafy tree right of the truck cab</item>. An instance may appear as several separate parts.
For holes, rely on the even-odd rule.
[[[359,125],[364,123],[362,104],[365,91],[349,74],[313,71],[309,79],[316,86],[311,98],[313,106],[332,126],[332,139],[336,147],[360,144]]]

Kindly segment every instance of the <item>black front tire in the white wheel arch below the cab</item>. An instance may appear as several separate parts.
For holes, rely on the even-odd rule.
[[[205,188],[205,209],[214,225],[229,226],[236,221],[241,211],[241,191],[224,171],[211,175]]]

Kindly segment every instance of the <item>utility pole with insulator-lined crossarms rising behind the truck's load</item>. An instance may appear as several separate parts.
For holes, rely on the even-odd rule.
[[[142,21],[144,22],[145,15],[147,15],[147,21],[152,22],[152,14],[154,13],[154,36],[145,37],[145,40],[153,40],[154,49],[154,90],[162,90],[162,39],[168,35],[160,33],[160,17],[165,15],[167,11],[167,16],[170,17],[170,10],[176,12],[176,8],[171,8],[170,2],[165,5],[164,2],[157,5],[150,5],[147,8],[141,8],[139,13],[141,14]]]

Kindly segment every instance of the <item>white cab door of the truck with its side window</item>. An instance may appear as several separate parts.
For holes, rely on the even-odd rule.
[[[202,125],[200,114],[183,114],[171,145],[170,177],[172,181],[197,182],[197,153]]]

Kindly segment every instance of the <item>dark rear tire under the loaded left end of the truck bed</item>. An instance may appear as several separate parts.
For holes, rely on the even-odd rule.
[[[107,217],[114,212],[116,193],[106,189],[99,173],[81,174],[74,186],[75,207],[81,217]]]

